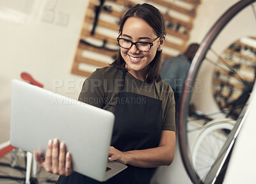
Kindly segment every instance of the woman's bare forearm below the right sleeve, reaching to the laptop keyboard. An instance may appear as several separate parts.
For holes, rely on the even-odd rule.
[[[172,164],[175,150],[167,146],[159,146],[147,150],[124,152],[127,164],[136,167],[158,167]]]

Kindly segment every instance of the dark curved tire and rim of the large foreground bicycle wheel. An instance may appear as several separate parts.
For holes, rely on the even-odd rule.
[[[237,15],[241,10],[246,8],[248,5],[254,3],[255,0],[243,0],[231,6],[221,17],[216,21],[216,23],[211,27],[210,31],[206,34],[202,42],[200,43],[200,47],[198,48],[193,61],[191,62],[191,66],[188,71],[188,75],[184,82],[184,88],[182,93],[182,98],[180,101],[180,115],[179,115],[179,147],[180,154],[182,157],[183,164],[186,168],[186,171],[191,178],[193,183],[204,183],[200,180],[198,174],[196,174],[195,169],[193,168],[192,160],[191,160],[191,151],[188,146],[188,137],[187,137],[187,119],[189,112],[189,102],[191,100],[191,93],[189,92],[189,88],[194,86],[196,75],[198,74],[198,70],[202,61],[207,54],[207,51],[211,47],[212,43],[221,32],[223,27],[227,25],[230,20],[234,16]],[[213,180],[213,179],[212,179]]]

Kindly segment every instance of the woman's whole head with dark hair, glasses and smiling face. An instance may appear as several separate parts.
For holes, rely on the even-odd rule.
[[[141,81],[144,79],[147,82],[160,81],[159,70],[166,32],[163,16],[159,10],[148,8],[145,11],[137,11],[134,8],[127,11],[120,24],[119,33],[117,40],[122,38],[129,40],[130,43],[122,47],[120,41],[118,42],[121,49],[112,65],[130,70],[134,77]],[[141,42],[150,43],[147,52],[138,48]],[[127,47],[129,49],[126,49]]]

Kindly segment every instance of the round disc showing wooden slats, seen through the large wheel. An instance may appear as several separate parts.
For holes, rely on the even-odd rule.
[[[243,36],[221,54],[214,69],[212,93],[227,117],[238,118],[252,92],[255,74],[256,39]]]

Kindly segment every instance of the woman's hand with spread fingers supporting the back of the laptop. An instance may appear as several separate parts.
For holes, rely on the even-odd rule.
[[[45,171],[64,176],[72,173],[71,155],[66,152],[64,142],[60,143],[58,139],[49,140],[45,158],[36,151],[34,151],[34,154],[36,162],[44,167]]]

